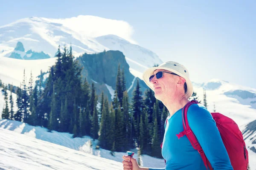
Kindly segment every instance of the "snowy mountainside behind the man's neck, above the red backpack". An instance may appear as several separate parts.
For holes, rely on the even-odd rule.
[[[208,110],[213,112],[214,104],[216,112],[231,117],[239,126],[248,124],[256,119],[254,104],[244,104],[247,99],[241,99],[236,95],[228,95],[230,91],[248,91],[256,94],[256,89],[236,85],[219,79],[211,79],[201,85],[194,83],[194,91],[203,101],[203,89],[206,89]],[[252,98],[251,100],[256,100]]]

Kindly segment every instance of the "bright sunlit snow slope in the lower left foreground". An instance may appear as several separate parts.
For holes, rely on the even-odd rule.
[[[1,170],[121,170],[122,163],[0,128]],[[100,163],[99,163],[100,162]]]

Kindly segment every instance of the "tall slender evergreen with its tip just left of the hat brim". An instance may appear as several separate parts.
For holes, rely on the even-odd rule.
[[[138,140],[140,136],[140,114],[142,112],[142,105],[143,105],[143,98],[142,98],[142,92],[140,91],[140,82],[139,79],[137,80],[136,89],[133,92],[132,97],[132,112],[133,117],[135,120],[135,131],[133,133],[136,134],[135,138]]]

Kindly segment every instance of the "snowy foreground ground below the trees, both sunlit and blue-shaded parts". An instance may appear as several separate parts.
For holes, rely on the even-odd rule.
[[[7,132],[6,130],[10,130],[10,132]],[[7,154],[5,153],[4,158],[9,159],[9,157],[11,157],[10,158],[11,160],[16,159],[16,157],[21,157],[22,159],[20,158],[17,159],[18,160],[17,162],[19,162],[17,167],[22,166],[23,163],[25,164],[26,162],[28,164],[31,164],[31,166],[34,166],[36,162],[36,165],[41,167],[42,166],[41,164],[37,164],[38,162],[41,162],[45,164],[47,163],[50,167],[53,166],[52,168],[57,168],[57,170],[58,168],[60,170],[61,168],[64,168],[65,170],[66,169],[69,170],[68,168],[76,169],[74,168],[76,166],[72,167],[73,164],[71,164],[72,161],[76,160],[75,163],[77,164],[77,166],[80,166],[80,167],[77,167],[79,168],[79,170],[82,169],[83,166],[84,168],[90,167],[91,169],[99,169],[99,170],[105,170],[105,169],[121,170],[122,156],[126,155],[126,153],[123,153],[123,152],[115,152],[115,155],[112,156],[109,150],[105,150],[101,148],[99,150],[95,149],[98,143],[98,140],[93,141],[93,139],[90,138],[89,136],[83,136],[82,138],[72,138],[72,134],[70,133],[60,133],[56,131],[52,131],[52,133],[50,133],[46,128],[38,127],[38,126],[34,127],[28,124],[18,122],[18,121],[13,121],[13,120],[6,120],[6,119],[0,120],[0,133],[3,134],[3,135],[0,135],[0,141],[4,141],[4,142],[0,142],[0,154],[2,155],[2,152],[5,153],[6,151]],[[18,133],[21,133],[21,134],[18,134]],[[5,138],[5,139],[2,140],[1,138]],[[41,139],[41,140],[38,140],[38,139]],[[17,141],[20,141],[20,145],[17,144]],[[8,144],[2,144],[2,143],[8,143]],[[92,146],[90,146],[91,144]],[[14,149],[14,147],[16,149]],[[137,159],[137,150],[132,150],[132,151],[136,153],[134,155],[134,158]],[[51,155],[54,157],[52,157]],[[61,158],[61,159],[58,159],[58,158]],[[5,159],[2,159],[2,156],[1,156],[0,164],[4,164],[5,166],[10,166],[10,164],[6,165],[5,163],[6,161],[3,161]],[[40,161],[40,159],[43,159],[43,160]],[[53,159],[53,162],[50,161],[50,159]],[[67,161],[65,161],[66,159]],[[95,161],[93,161],[93,159]],[[32,162],[35,161],[34,164],[30,162],[31,160]],[[143,160],[143,166],[164,167],[163,159],[157,159],[151,156],[142,155],[142,160]],[[101,162],[100,167],[98,165],[99,161]],[[116,165],[113,166],[113,164],[116,164]],[[12,166],[15,166],[15,165],[12,165]],[[32,167],[28,167],[28,168],[29,170],[33,169]]]

